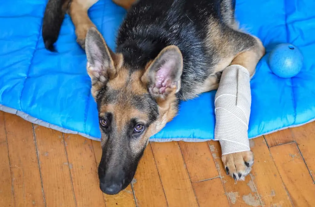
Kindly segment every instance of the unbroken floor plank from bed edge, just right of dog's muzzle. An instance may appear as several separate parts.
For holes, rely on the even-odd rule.
[[[198,206],[178,143],[150,144],[169,207]]]

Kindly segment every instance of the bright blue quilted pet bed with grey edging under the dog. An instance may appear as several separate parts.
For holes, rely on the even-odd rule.
[[[44,48],[41,27],[46,3],[47,0],[0,3],[0,109],[33,123],[99,140],[85,53],[76,43],[68,15],[56,42],[58,53]],[[236,1],[240,26],[258,36],[267,52],[251,80],[250,138],[315,118],[314,8],[312,0]],[[100,0],[89,10],[91,20],[113,50],[125,14],[111,0]],[[279,43],[292,43],[303,53],[303,68],[293,78],[279,78],[268,67],[268,53]],[[151,140],[213,139],[215,92],[181,102],[178,116]]]

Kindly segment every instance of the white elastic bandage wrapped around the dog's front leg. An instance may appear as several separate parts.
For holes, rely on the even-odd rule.
[[[215,140],[220,141],[222,155],[250,150],[249,81],[249,72],[241,65],[231,65],[222,72],[215,94]]]

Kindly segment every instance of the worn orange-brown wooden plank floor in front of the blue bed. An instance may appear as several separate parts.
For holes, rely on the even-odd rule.
[[[315,122],[250,143],[255,164],[239,183],[218,142],[150,143],[132,185],[109,196],[99,142],[0,112],[0,206],[315,206]]]

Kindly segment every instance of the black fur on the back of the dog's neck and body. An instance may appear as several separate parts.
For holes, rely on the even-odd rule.
[[[209,17],[223,21],[222,4],[232,0],[140,0],[129,10],[117,38],[117,52],[134,70],[142,69],[166,46],[183,55],[182,86],[178,98],[194,98],[215,64],[204,41]],[[230,2],[231,3],[231,2]],[[224,4],[225,5],[225,4]],[[226,8],[231,8],[227,4]],[[229,11],[233,14],[233,12]]]

